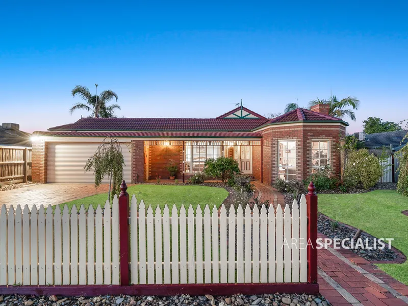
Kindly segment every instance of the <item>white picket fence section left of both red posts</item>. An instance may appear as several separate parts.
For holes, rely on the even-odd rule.
[[[112,217],[111,217],[112,216]],[[119,284],[118,199],[96,211],[0,211],[0,285]],[[112,240],[111,240],[112,237]]]

